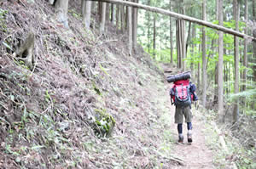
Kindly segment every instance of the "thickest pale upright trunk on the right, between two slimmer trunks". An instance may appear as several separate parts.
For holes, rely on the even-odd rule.
[[[218,25],[223,25],[223,0],[218,0]],[[218,115],[219,121],[224,122],[223,104],[223,32],[218,31]]]

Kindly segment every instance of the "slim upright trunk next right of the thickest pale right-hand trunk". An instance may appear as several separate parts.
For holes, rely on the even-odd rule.
[[[240,8],[238,0],[233,0],[234,16],[236,20],[236,31],[239,31],[239,15]],[[239,93],[239,39],[235,36],[235,93]],[[239,99],[236,100],[236,104],[233,111],[233,123],[236,123],[239,115]]]

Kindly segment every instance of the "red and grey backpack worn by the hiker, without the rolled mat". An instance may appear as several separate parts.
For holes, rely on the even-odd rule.
[[[189,80],[179,80],[174,82],[171,89],[171,101],[179,107],[189,106],[191,104],[191,93]]]

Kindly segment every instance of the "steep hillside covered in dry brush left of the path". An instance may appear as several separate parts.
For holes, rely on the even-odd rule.
[[[0,167],[177,164],[169,112],[158,99],[164,76],[149,56],[141,48],[129,56],[126,36],[112,25],[99,36],[96,17],[94,29],[84,30],[75,3],[65,29],[47,2],[0,3]],[[36,36],[32,70],[13,56],[29,32]],[[104,120],[114,125],[110,137]]]

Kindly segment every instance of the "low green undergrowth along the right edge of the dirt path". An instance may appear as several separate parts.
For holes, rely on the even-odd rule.
[[[256,167],[255,148],[248,144],[248,141],[253,137],[253,134],[248,135],[248,132],[253,133],[253,131],[246,129],[248,128],[248,125],[245,125],[247,122],[241,123],[240,127],[234,130],[232,126],[224,126],[214,122],[218,115],[213,110],[200,108],[198,112],[201,112],[201,120],[205,122],[206,129],[204,133],[207,136],[207,146],[216,152],[214,163],[218,168],[232,166],[241,169],[253,169]],[[241,121],[243,121],[242,118]],[[220,135],[216,132],[216,128],[219,127]],[[220,137],[224,138],[225,148],[220,144]]]

